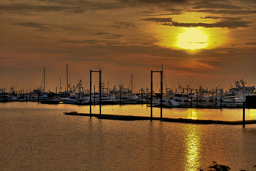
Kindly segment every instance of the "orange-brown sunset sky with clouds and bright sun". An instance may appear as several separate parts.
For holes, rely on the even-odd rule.
[[[84,87],[90,69],[110,88],[132,74],[136,90],[150,87],[162,64],[168,88],[256,86],[255,22],[255,0],[2,0],[0,88],[38,88],[46,68],[55,92],[67,64]]]

